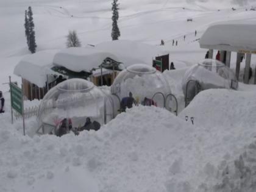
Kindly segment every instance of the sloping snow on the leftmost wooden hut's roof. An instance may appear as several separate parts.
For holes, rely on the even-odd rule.
[[[52,59],[59,50],[52,49],[38,51],[35,54],[26,55],[15,66],[13,73],[23,79],[29,80],[38,87],[44,87],[47,81],[46,74],[54,74],[51,70]]]

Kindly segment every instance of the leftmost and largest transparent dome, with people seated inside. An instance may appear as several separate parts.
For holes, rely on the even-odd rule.
[[[93,83],[84,79],[65,80],[51,88],[41,101],[37,133],[62,136],[71,130],[98,130],[113,118],[112,106],[111,98]],[[61,127],[66,129],[63,133],[59,133]]]

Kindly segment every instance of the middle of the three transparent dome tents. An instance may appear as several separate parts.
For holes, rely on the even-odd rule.
[[[162,73],[146,64],[131,65],[121,71],[112,84],[111,93],[121,103],[132,93],[137,104],[166,107],[172,112],[177,112],[177,103],[172,104],[176,98],[171,94],[168,82]],[[121,108],[121,105],[115,108],[115,111]]]

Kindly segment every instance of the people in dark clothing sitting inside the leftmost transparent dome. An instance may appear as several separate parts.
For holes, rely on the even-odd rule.
[[[99,124],[98,121],[91,122],[91,119],[87,117],[85,119],[85,124],[82,127],[73,127],[71,118],[64,118],[60,122],[60,126],[56,130],[56,135],[58,137],[62,137],[62,135],[65,135],[66,133],[69,133],[70,131],[73,131],[75,135],[79,135],[79,132],[82,130],[99,130],[101,128],[101,124]]]

